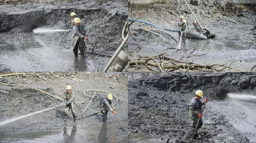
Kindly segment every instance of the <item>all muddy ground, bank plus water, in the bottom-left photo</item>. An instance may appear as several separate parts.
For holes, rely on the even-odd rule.
[[[74,76],[76,79],[80,79],[80,82],[69,79],[71,77],[74,78]],[[127,141],[127,75],[105,75],[88,72],[28,72],[22,76],[3,77],[0,81],[42,89],[58,97],[62,97],[66,85],[71,85],[75,93],[75,102],[86,101],[84,104],[77,103],[75,105],[78,117],[82,115],[82,112],[95,93],[86,92],[84,97],[84,90],[98,89],[110,92],[118,99],[118,103],[115,106],[116,112],[121,124],[125,128],[125,131],[119,130],[119,123],[111,112],[107,116],[106,124],[103,124],[101,113],[82,118],[75,124],[72,114],[69,112],[68,120],[63,122],[64,108],[57,107],[1,125],[1,142],[123,143]],[[31,88],[0,85],[0,100],[2,101],[0,104],[0,123],[21,115],[60,105],[61,102],[57,99]],[[85,115],[100,112],[98,105],[105,96],[106,93],[97,92]]]

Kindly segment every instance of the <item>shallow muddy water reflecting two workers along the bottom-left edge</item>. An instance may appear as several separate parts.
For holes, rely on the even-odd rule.
[[[124,122],[124,120],[121,120]],[[127,127],[127,126],[126,126]],[[65,125],[57,129],[1,134],[1,142],[26,143],[125,143],[126,131],[119,130],[116,122]]]

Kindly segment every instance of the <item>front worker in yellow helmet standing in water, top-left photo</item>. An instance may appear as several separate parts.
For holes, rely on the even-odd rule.
[[[74,52],[75,57],[77,57],[78,56],[77,52],[78,52],[78,47],[79,47],[81,58],[84,58],[86,46],[85,46],[85,42],[83,40],[87,39],[87,37],[83,35],[83,34],[85,34],[85,29],[83,28],[80,18],[75,18],[74,22],[76,24],[73,26],[73,29],[72,29],[73,52]]]

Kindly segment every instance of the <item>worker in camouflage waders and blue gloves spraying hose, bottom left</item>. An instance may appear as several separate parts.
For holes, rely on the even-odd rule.
[[[76,114],[76,111],[75,111],[75,101],[74,101],[74,92],[71,90],[71,86],[68,85],[66,87],[66,92],[64,93],[63,95],[63,98],[62,98],[62,101],[61,102],[61,105],[65,105],[65,114],[64,114],[64,120],[63,121],[66,121],[67,120],[67,114],[68,114],[68,111],[71,110],[71,113],[73,115],[73,118],[74,118],[74,122],[77,123],[77,114]]]

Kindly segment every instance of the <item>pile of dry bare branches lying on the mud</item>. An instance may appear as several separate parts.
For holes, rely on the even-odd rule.
[[[191,50],[187,51],[186,54],[183,55],[179,60],[168,57],[168,55],[180,50],[174,50],[171,53],[164,52],[161,54],[153,55],[152,57],[140,57],[135,60],[129,60],[128,67],[130,68],[132,66],[136,66],[135,70],[137,70],[138,68],[140,68],[140,66],[145,66],[151,71],[158,71],[157,69],[159,69],[160,71],[224,71],[225,69],[231,71],[232,69],[234,69],[231,67],[231,64],[235,61],[229,64],[229,66],[226,66],[226,64],[201,65],[193,63],[193,61],[183,61],[183,58],[200,56],[192,55],[195,49],[196,48],[192,48]]]

